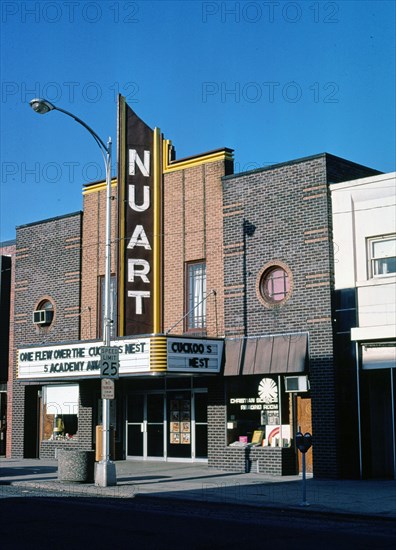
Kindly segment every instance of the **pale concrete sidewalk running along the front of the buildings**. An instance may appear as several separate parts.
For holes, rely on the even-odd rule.
[[[64,483],[57,478],[56,460],[0,458],[2,485],[59,492],[62,496],[111,498],[156,497],[240,504],[260,508],[306,510],[331,514],[396,519],[396,481],[317,480],[306,482],[303,505],[299,476],[236,474],[206,464],[176,462],[116,462],[117,485]]]

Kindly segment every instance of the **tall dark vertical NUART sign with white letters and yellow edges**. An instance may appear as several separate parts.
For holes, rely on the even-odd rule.
[[[161,331],[161,137],[118,100],[120,335]]]

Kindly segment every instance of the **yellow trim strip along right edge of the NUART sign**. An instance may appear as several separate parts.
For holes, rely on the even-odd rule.
[[[154,128],[153,332],[161,332],[161,133]]]

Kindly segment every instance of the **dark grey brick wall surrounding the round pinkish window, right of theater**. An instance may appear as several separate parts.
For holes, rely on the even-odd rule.
[[[309,333],[317,477],[337,477],[340,461],[328,183],[372,173],[323,154],[223,178],[225,333]],[[259,298],[260,273],[269,262],[285,264],[292,276],[291,297],[280,307],[265,307]],[[225,422],[225,403],[217,407],[224,409]],[[224,442],[224,426],[214,424],[219,431],[212,440]],[[223,449],[223,461],[229,451]]]

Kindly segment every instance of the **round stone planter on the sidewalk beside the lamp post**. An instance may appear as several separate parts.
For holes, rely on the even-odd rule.
[[[58,479],[72,483],[93,483],[95,451],[58,451]]]

